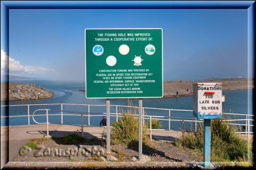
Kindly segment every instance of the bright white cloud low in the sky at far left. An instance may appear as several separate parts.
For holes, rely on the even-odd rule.
[[[34,66],[23,66],[19,61],[12,59],[6,55],[6,52],[1,50],[1,71],[8,67],[9,61],[9,73],[46,73],[48,71],[54,71],[54,69],[48,67],[34,67]]]

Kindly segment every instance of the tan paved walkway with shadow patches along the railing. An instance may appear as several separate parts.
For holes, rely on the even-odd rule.
[[[77,125],[49,125],[49,135],[63,137],[67,134],[78,133],[81,126]],[[102,138],[104,127],[84,127],[84,138]],[[106,132],[106,130],[105,130]],[[46,125],[16,125],[1,127],[1,168],[4,162],[12,162],[17,157],[19,150],[29,139],[42,138],[46,135]],[[178,131],[152,131],[152,139],[156,141],[174,141],[180,138],[182,132]],[[9,148],[8,148],[9,145]],[[6,164],[6,163],[5,163]]]

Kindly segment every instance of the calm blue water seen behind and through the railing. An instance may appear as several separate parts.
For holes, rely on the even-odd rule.
[[[14,104],[50,104],[50,103],[68,103],[68,104],[106,104],[106,99],[86,99],[84,92],[79,91],[79,89],[84,89],[84,82],[71,82],[71,81],[15,81],[17,83],[35,83],[44,87],[48,90],[54,92],[54,97],[51,99],[40,99],[40,100],[30,100],[30,101],[10,101],[10,105]],[[252,114],[252,101],[253,90],[232,90],[223,91],[223,96],[226,96],[226,101],[223,103],[223,112],[229,113],[244,113]],[[1,103],[2,105],[4,103]],[[127,99],[111,99],[110,104],[118,104],[127,106]],[[138,99],[132,99],[133,106],[138,106]],[[193,97],[179,97],[179,98],[163,98],[163,99],[143,99],[143,107],[148,108],[166,108],[166,109],[177,109],[177,110],[193,110]],[[29,112],[32,114],[37,109],[51,109],[51,110],[61,110],[61,106],[30,106]],[[249,110],[248,110],[249,108]],[[9,115],[28,115],[27,106],[19,107],[9,107]],[[87,112],[87,106],[63,106],[65,111],[81,111]],[[118,110],[120,111],[120,110]],[[106,106],[100,107],[90,107],[90,113],[106,113]],[[111,107],[111,113],[115,113],[116,108]],[[6,113],[6,107],[1,107],[1,116]],[[60,113],[60,111],[50,111],[49,114]],[[37,114],[45,114],[45,111],[38,111]],[[72,113],[70,113],[72,114]],[[147,110],[145,109],[146,115],[161,115],[168,117],[169,111],[161,110]],[[195,118],[192,112],[185,111],[172,111],[171,117],[184,117],[184,118]],[[245,117],[241,117],[245,118]],[[90,125],[99,125],[101,117],[91,117]],[[36,121],[45,122],[45,117],[36,117]],[[111,117],[111,122],[115,122],[115,117]],[[60,124],[60,116],[51,116],[49,122]],[[168,129],[167,121],[160,121],[163,124],[164,129]],[[9,125],[27,125],[27,117],[10,118]],[[30,119],[30,124],[35,124]],[[74,116],[64,116],[63,124],[81,124],[81,117]],[[88,124],[88,118],[84,117],[84,124]],[[1,125],[8,125],[6,119],[1,118]],[[179,130],[181,127],[181,122],[172,122],[171,129]],[[189,130],[189,122],[185,122],[185,127]]]

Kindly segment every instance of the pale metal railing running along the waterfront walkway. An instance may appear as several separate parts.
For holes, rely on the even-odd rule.
[[[51,109],[38,109],[35,110],[33,112],[32,115],[30,115],[30,107],[31,106],[47,106],[47,105],[60,105],[61,106],[61,110],[51,110]],[[87,112],[77,112],[77,111],[65,111],[63,110],[63,105],[64,106],[87,106],[88,110]],[[15,116],[9,116],[9,118],[12,117],[28,117],[28,125],[30,125],[30,117],[33,118],[34,122],[36,124],[47,124],[47,136],[49,136],[49,118],[48,116],[56,116],[56,115],[60,115],[61,116],[61,124],[63,124],[63,116],[79,116],[81,117],[81,131],[83,133],[83,117],[88,117],[88,126],[90,126],[90,118],[91,117],[102,117],[103,115],[106,115],[106,113],[91,113],[90,112],[90,108],[92,106],[106,106],[106,104],[67,104],[67,103],[60,103],[60,104],[20,104],[20,105],[9,105],[9,107],[15,107],[15,106],[26,106],[27,107],[27,111],[28,114],[27,115],[15,115]],[[118,118],[122,117],[122,113],[118,113],[118,108],[136,108],[138,109],[138,106],[123,106],[123,105],[110,105],[111,107],[115,107],[115,112],[116,113],[110,113],[110,117],[115,117],[116,118],[116,122],[118,122]],[[1,106],[1,107],[7,107],[7,106]],[[46,111],[46,119],[47,122],[45,123],[38,123],[35,121],[34,117],[42,117],[45,115],[35,115],[36,111],[42,111],[45,110]],[[145,115],[145,110],[162,110],[162,111],[168,111],[168,116],[157,116],[157,115]],[[49,111],[59,111],[59,114],[51,114],[49,115],[48,112]],[[195,131],[197,131],[197,124],[198,123],[202,123],[203,120],[197,119],[197,118],[185,118],[185,117],[171,117],[171,113],[172,111],[186,111],[186,112],[193,112],[193,110],[174,110],[174,109],[164,109],[164,108],[147,108],[147,107],[143,107],[143,120],[148,120],[149,125],[149,131],[150,131],[150,139],[152,139],[152,130],[156,130],[156,129],[152,129],[152,120],[163,120],[163,121],[168,121],[168,129],[157,129],[157,130],[168,130],[168,131],[173,131],[171,129],[171,122],[181,122],[182,123],[182,132],[184,131],[184,122],[194,122],[195,123]],[[67,114],[67,113],[78,113],[78,114]],[[245,126],[246,129],[244,132],[236,132],[236,133],[243,133],[243,134],[247,134],[249,136],[249,134],[253,134],[253,132],[250,131],[250,127],[253,127],[253,124],[250,124],[251,121],[253,121],[253,118],[249,118],[249,117],[253,117],[253,115],[248,115],[248,114],[241,114],[241,113],[223,113],[223,115],[233,115],[233,116],[243,116],[246,118],[239,118],[239,119],[229,119],[229,120],[224,120],[224,121],[228,121],[229,125],[238,125],[238,126]],[[138,115],[136,115],[138,116]],[[1,118],[7,118],[6,116],[3,116]],[[237,123],[230,123],[230,122],[237,122],[237,121],[245,121],[245,124],[237,124]],[[145,122],[145,121],[143,121]]]

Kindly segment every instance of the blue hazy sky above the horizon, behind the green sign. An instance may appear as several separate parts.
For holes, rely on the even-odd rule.
[[[164,81],[248,76],[247,10],[11,9],[9,15],[12,75],[84,81],[84,29],[162,28]]]

